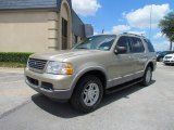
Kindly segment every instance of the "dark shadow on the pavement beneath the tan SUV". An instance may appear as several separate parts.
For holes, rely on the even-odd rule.
[[[154,83],[156,80],[152,80],[151,84]],[[150,87],[150,86],[149,86]],[[140,84],[135,84],[132,86],[127,89],[124,89],[122,91],[119,92],[114,92],[111,94],[107,94],[103,96],[102,102],[100,103],[100,106],[98,109],[113,103],[116,102],[120,99],[129,99],[128,95],[137,92],[141,89],[144,89],[145,87],[141,87]],[[61,117],[61,118],[74,118],[77,116],[84,116],[85,114],[80,114],[76,110],[74,110],[71,106],[70,103],[59,103],[59,102],[54,102],[51,101],[50,99],[46,98],[45,95],[41,94],[35,94],[32,96],[32,101],[39,106],[41,109],[44,109],[45,112]]]

